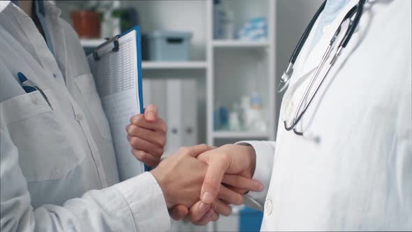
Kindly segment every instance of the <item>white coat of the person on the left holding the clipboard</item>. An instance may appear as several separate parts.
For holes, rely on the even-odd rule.
[[[31,18],[0,1],[1,231],[165,231],[170,218],[154,177],[118,183],[77,34],[59,9],[45,2],[45,10],[54,56]],[[51,107],[40,92],[24,92],[17,72]]]

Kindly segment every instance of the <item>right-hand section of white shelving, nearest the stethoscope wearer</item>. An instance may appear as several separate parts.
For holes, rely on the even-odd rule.
[[[267,19],[268,38],[265,41],[214,40],[213,3],[207,1],[207,144],[226,141],[265,139],[274,140],[275,110],[275,3],[271,0],[234,3],[226,1],[235,11],[235,25],[239,27],[251,17]],[[224,63],[223,63],[224,62]],[[230,92],[230,89],[237,91]],[[213,112],[219,104],[226,107],[241,96],[258,92],[266,108],[267,131],[214,131]]]

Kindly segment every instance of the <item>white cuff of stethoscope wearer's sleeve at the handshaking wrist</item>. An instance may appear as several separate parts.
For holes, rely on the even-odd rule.
[[[274,141],[243,141],[237,144],[249,144],[256,152],[256,168],[253,179],[260,181],[265,189],[261,192],[249,191],[246,204],[257,210],[263,210],[263,205],[269,189],[270,177],[272,176]]]

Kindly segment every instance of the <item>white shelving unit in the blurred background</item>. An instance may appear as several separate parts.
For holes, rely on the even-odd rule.
[[[143,61],[144,78],[200,79],[200,90],[204,91],[205,106],[198,116],[200,131],[198,143],[216,145],[216,140],[267,139],[274,140],[274,126],[277,125],[275,103],[275,41],[274,12],[272,0],[247,1],[236,3],[226,1],[233,8],[235,25],[248,18],[263,16],[267,19],[268,38],[264,41],[216,40],[213,38],[213,1],[187,1],[179,4],[172,1],[119,1],[121,7],[135,7],[139,10],[142,31],[177,30],[192,31],[191,61]],[[178,5],[178,6],[177,6]],[[169,13],[182,12],[179,18]],[[155,13],[156,12],[156,13]],[[164,13],[163,17],[154,17]],[[167,13],[169,12],[169,13]],[[85,47],[103,43],[104,39],[82,39]],[[236,89],[236,91],[230,91]],[[230,108],[240,97],[258,92],[263,99],[267,131],[214,131],[213,113],[219,104]],[[219,144],[219,143],[218,143]]]

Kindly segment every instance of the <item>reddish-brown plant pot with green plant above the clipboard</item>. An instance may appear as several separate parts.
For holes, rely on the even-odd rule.
[[[111,1],[73,1],[71,11],[73,27],[80,38],[100,38],[102,13],[110,8]]]

